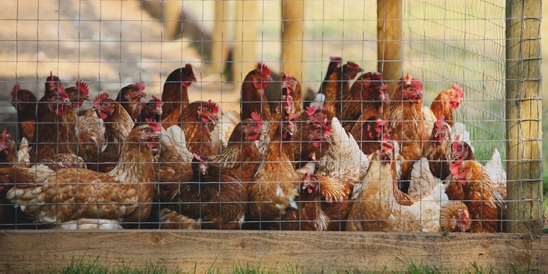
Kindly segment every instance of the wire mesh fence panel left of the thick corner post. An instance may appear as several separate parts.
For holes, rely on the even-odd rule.
[[[383,4],[400,18],[374,0],[8,1],[1,227],[525,221],[506,214],[505,1]]]

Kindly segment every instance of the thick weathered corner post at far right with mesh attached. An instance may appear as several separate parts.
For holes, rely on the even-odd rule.
[[[543,225],[541,3],[506,1],[508,232],[538,232]]]

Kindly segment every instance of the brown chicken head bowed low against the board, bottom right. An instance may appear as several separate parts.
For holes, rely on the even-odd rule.
[[[449,201],[441,208],[442,232],[467,232],[470,229],[470,212],[461,201]]]

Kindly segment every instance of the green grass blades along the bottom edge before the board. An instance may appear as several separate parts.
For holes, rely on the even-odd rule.
[[[403,269],[399,271],[388,271],[386,266],[382,269],[366,269],[358,270],[352,267],[345,269],[344,271],[329,271],[322,269],[321,271],[312,271],[310,268],[301,268],[294,264],[288,264],[286,266],[279,266],[279,268],[274,270],[264,269],[261,266],[253,266],[247,264],[245,266],[236,266],[231,269],[221,269],[214,265],[210,266],[210,269],[203,271],[208,274],[300,274],[300,273],[410,273],[410,274],[438,274],[438,273],[449,273],[449,271],[441,271],[436,266],[426,266],[423,264],[416,264],[414,262],[406,264]],[[512,267],[511,273],[531,273],[530,269],[518,269]],[[48,271],[39,271],[36,273],[47,273],[47,274],[195,274],[202,273],[195,266],[189,271],[182,271],[177,267],[166,266],[160,264],[147,264],[144,268],[132,267],[129,264],[121,265],[109,265],[103,264],[99,261],[99,258],[92,262],[84,262],[83,260],[73,260],[69,265],[65,266],[63,269],[55,270],[50,269]],[[495,269],[493,266],[479,266],[476,263],[471,264],[470,266],[465,266],[458,273],[474,273],[474,274],[495,274],[502,273],[501,271]]]

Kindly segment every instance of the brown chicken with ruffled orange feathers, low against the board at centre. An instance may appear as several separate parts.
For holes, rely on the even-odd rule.
[[[353,184],[308,173],[300,185],[297,210],[286,213],[282,230],[344,230]]]

